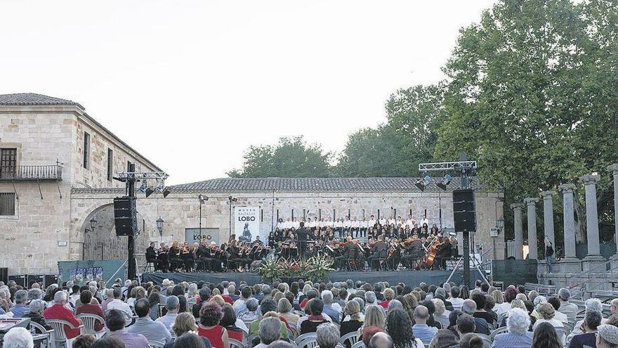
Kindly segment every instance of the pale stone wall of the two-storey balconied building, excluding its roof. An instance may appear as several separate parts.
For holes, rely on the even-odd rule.
[[[91,134],[91,169],[81,165],[84,129]],[[0,181],[0,193],[17,197],[15,216],[0,217],[0,267],[9,274],[53,274],[58,261],[81,259],[71,189],[124,186],[107,181],[107,148],[114,150],[114,174],[127,160],[155,168],[74,106],[0,107],[0,148],[17,148],[18,166],[63,164],[62,181]]]

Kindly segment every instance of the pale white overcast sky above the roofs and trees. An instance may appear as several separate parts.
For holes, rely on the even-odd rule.
[[[341,151],[493,3],[5,0],[0,94],[77,101],[169,184],[213,179],[281,136]]]

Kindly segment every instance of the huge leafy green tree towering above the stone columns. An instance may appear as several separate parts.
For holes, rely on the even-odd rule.
[[[603,200],[605,166],[617,161],[616,6],[504,0],[463,28],[444,68],[449,117],[435,156],[466,150],[482,179],[503,186],[511,202],[600,172]]]

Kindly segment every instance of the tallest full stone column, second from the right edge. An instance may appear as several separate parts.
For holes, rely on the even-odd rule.
[[[588,243],[588,255],[584,257],[582,267],[587,271],[596,264],[605,261],[600,256],[600,245],[598,236],[598,211],[596,207],[596,183],[599,181],[598,175],[584,175],[579,178],[584,183],[586,189],[586,239]],[[597,269],[597,271],[600,271]],[[605,271],[605,270],[603,270]]]

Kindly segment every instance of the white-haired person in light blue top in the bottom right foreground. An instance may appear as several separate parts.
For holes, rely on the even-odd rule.
[[[532,333],[528,331],[530,316],[525,309],[513,308],[509,310],[506,327],[508,333],[496,335],[492,348],[529,348],[532,345]]]

